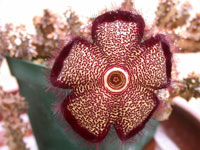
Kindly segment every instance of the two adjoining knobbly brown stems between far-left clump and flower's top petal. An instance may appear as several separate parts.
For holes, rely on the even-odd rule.
[[[44,10],[43,16],[33,18],[36,35],[33,36],[32,44],[38,53],[37,57],[47,58],[51,51],[59,47],[60,41],[68,41],[69,37],[80,35],[82,22],[70,8],[61,16]]]

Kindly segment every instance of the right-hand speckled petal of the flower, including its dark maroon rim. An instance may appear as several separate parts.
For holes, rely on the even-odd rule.
[[[171,80],[169,45],[163,35],[157,35],[142,43],[143,53],[133,59],[132,81],[153,89],[165,88]]]

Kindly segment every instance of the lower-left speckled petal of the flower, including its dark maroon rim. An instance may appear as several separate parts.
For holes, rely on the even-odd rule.
[[[110,129],[108,102],[111,96],[102,87],[85,92],[81,96],[71,93],[61,104],[65,120],[83,138],[100,142]]]

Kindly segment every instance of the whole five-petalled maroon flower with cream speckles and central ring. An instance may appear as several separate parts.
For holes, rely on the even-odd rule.
[[[143,41],[144,27],[139,14],[107,12],[93,21],[92,42],[74,38],[56,58],[52,85],[72,89],[59,109],[84,139],[100,142],[113,125],[126,141],[158,107],[154,92],[170,84],[172,54],[164,35]]]

